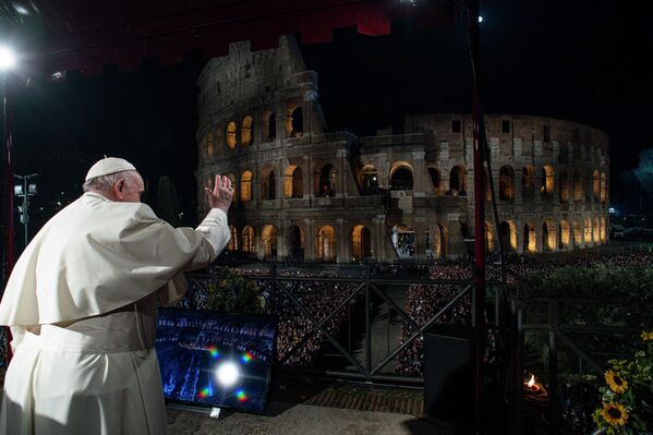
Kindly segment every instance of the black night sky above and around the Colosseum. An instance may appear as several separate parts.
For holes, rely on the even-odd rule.
[[[644,13],[610,1],[510,0],[483,2],[482,14],[485,112],[549,116],[602,129],[610,136],[613,179],[653,146],[653,85],[642,63],[653,26]],[[309,69],[319,74],[331,130],[364,135],[401,125],[404,113],[470,111],[460,20],[438,31],[397,23],[385,37],[340,29],[332,44],[301,48]],[[35,205],[60,192],[65,201],[76,197],[89,165],[102,154],[118,155],[132,160],[150,186],[159,176],[171,176],[191,216],[186,223],[193,223],[195,80],[202,67],[189,56],[174,67],[147,63],[137,73],[33,81],[15,90],[15,172],[44,173]]]

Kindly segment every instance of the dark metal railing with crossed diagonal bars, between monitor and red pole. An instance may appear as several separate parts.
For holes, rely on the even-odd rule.
[[[473,281],[472,280],[448,280],[448,279],[388,279],[387,277],[374,276],[372,270],[374,265],[362,265],[361,273],[358,276],[350,277],[326,277],[326,276],[292,276],[290,274],[283,274],[279,271],[277,263],[269,264],[270,268],[267,273],[252,273],[244,275],[243,277],[250,280],[256,281],[262,290],[267,295],[268,303],[266,312],[268,314],[276,314],[276,306],[280,301],[290,303],[299,314],[304,316],[311,324],[307,333],[297,342],[292,345],[289,351],[286,351],[280,357],[279,363],[283,370],[289,371],[303,371],[311,373],[319,373],[330,377],[359,379],[366,382],[378,382],[385,384],[412,384],[422,385],[422,376],[407,376],[407,375],[389,375],[382,374],[382,372],[388,367],[389,363],[401,355],[409,346],[415,340],[421,338],[423,334],[438,322],[443,322],[445,315],[451,311],[452,307],[462,303],[465,297],[469,297],[470,315],[468,316],[470,322],[473,319],[471,315],[475,310],[475,303],[472,298]],[[351,270],[351,269],[350,269]],[[184,306],[188,307],[202,307],[197,305],[198,300],[205,299],[204,297],[197,297],[197,293],[206,292],[207,286],[210,282],[219,282],[227,277],[227,273],[218,273],[211,275],[201,274],[189,274],[188,279],[190,281],[190,290],[186,295],[186,302]],[[312,307],[309,306],[303,298],[298,297],[292,289],[293,285],[304,283],[311,285],[312,282],[331,283],[334,286],[350,286],[350,290],[347,294],[335,302],[332,309],[327,313],[323,313],[324,316],[318,318],[312,312]],[[424,286],[450,286],[456,288],[455,294],[438,306],[438,309],[427,318],[425,322],[418,323],[411,314],[406,310],[406,306],[400,306],[390,295],[384,291],[384,288],[388,286],[409,286],[424,285]],[[487,309],[487,316],[489,317],[489,324],[498,326],[500,318],[500,301],[504,294],[503,286],[498,281],[488,281],[488,299],[493,303],[493,307]],[[215,291],[215,290],[214,290]],[[404,337],[402,337],[400,343],[394,346],[392,349],[386,354],[380,361],[373,361],[372,340],[373,340],[373,319],[374,319],[374,304],[372,300],[376,299],[382,303],[387,304],[397,316],[403,322],[406,326]],[[359,361],[352,349],[346,349],[338,339],[336,333],[329,330],[327,325],[336,318],[342,311],[356,303],[362,302],[364,305],[364,329],[362,335],[364,337],[362,349],[364,350],[363,361]],[[489,306],[489,304],[488,304]],[[338,367],[322,367],[317,368],[311,365],[292,365],[289,361],[293,357],[298,357],[299,352],[317,335],[322,335],[324,340],[329,342],[340,353],[342,358],[349,363],[347,370]]]

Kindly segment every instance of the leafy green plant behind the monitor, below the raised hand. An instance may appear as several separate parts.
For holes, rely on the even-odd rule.
[[[237,274],[228,274],[219,282],[207,288],[208,309],[229,313],[263,313],[265,299],[253,280]]]

